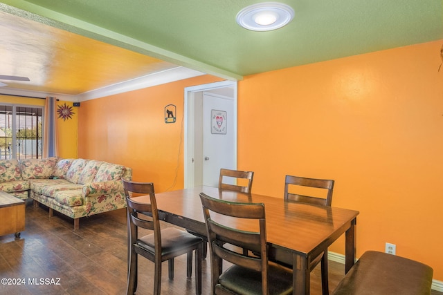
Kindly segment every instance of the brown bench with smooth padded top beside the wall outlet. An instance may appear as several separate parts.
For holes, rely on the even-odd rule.
[[[338,283],[334,295],[431,294],[433,269],[408,258],[366,251]]]

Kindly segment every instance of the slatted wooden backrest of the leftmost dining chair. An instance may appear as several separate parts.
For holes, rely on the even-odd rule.
[[[152,182],[133,182],[125,179],[122,180],[127,202],[129,242],[132,245],[138,239],[138,227],[142,227],[143,229],[151,229],[154,231],[155,252],[161,253],[161,228],[154,193],[154,184]],[[149,195],[150,204],[132,200],[132,193]],[[143,218],[141,218],[140,215],[143,215]]]

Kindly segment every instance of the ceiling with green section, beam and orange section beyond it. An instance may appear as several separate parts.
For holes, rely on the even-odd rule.
[[[242,79],[443,39],[441,0],[281,2],[293,21],[253,32],[235,22],[252,0],[2,1],[0,75],[30,81],[0,82],[75,96],[177,67]]]

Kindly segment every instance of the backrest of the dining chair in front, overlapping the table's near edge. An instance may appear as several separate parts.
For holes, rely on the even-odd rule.
[[[200,200],[203,206],[208,234],[213,292],[219,280],[221,259],[261,272],[262,289],[267,290],[268,251],[264,204],[228,202],[211,198],[205,193],[200,193]],[[229,218],[224,218],[226,216],[229,216]],[[233,218],[235,218],[235,222]],[[248,219],[247,222],[253,222],[256,225],[256,230],[248,229],[247,231],[242,231],[232,227],[232,225],[238,225],[242,222],[236,221],[244,219]],[[222,220],[230,220],[230,222],[226,223]],[[231,247],[231,245],[239,248]],[[260,253],[260,256],[249,256],[243,250],[237,252],[235,249],[247,249],[251,253]]]

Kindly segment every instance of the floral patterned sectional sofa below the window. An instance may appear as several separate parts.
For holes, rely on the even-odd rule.
[[[0,191],[73,218],[74,229],[79,218],[126,207],[121,178],[131,180],[132,169],[97,160],[0,160]]]

